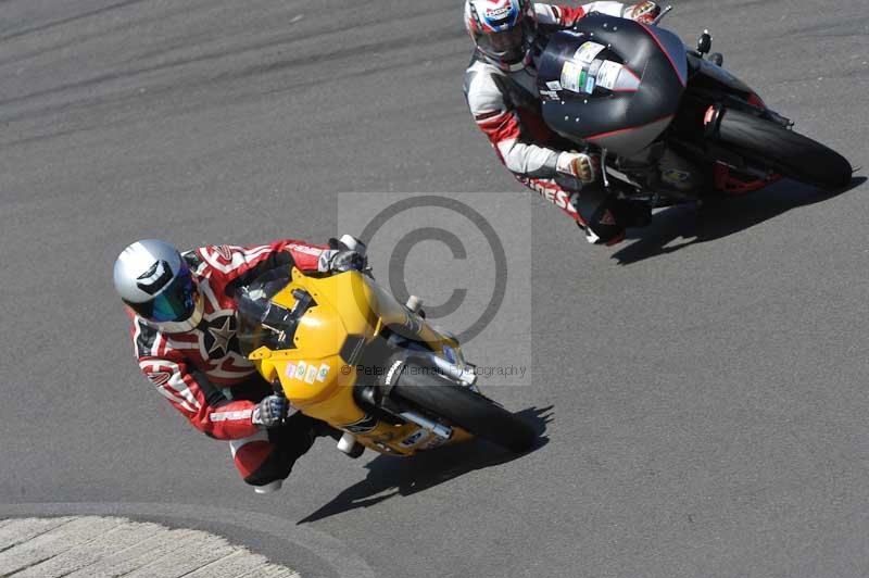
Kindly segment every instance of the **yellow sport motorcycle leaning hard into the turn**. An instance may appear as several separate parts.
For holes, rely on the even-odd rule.
[[[524,452],[537,435],[480,393],[459,343],[364,272],[279,268],[239,291],[242,350],[300,412],[341,430],[338,448],[407,456],[478,437]]]

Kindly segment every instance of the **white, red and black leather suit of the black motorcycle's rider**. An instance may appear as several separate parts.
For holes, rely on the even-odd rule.
[[[581,7],[533,4],[538,26],[566,28],[588,14],[621,16],[621,2],[591,2]],[[477,58],[465,73],[465,97],[477,126],[486,133],[495,153],[516,178],[584,225],[568,202],[572,191],[555,183],[555,163],[564,150],[575,148],[544,123],[533,66],[506,72]]]

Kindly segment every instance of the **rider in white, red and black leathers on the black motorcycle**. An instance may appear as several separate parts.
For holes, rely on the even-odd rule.
[[[520,183],[574,218],[589,242],[615,244],[624,239],[626,226],[647,221],[647,210],[603,191],[597,155],[572,151],[575,143],[546,127],[537,89],[536,37],[570,27],[590,12],[648,24],[660,9],[648,1],[570,7],[465,0],[465,27],[477,47],[465,73],[465,97],[477,126]]]

